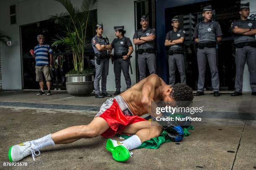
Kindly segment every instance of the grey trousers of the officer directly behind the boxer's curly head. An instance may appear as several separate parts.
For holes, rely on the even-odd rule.
[[[169,85],[175,83],[176,65],[179,70],[180,82],[186,84],[185,60],[183,54],[173,54],[168,57],[169,62]]]

